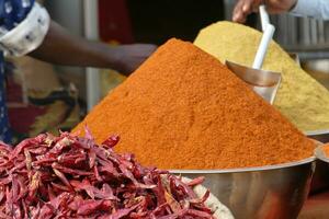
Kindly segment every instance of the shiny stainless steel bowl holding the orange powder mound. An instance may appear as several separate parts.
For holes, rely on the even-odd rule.
[[[311,157],[298,162],[228,170],[172,170],[190,178],[205,176],[204,186],[239,219],[293,219],[307,198],[315,171]]]

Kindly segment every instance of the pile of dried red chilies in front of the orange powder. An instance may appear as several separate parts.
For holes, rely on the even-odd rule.
[[[68,132],[43,134],[15,148],[0,143],[0,218],[213,218],[192,186],[117,154],[118,137],[97,146]]]

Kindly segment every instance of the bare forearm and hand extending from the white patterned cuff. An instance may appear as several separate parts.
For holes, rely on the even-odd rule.
[[[148,44],[109,46],[87,41],[68,34],[52,21],[42,45],[30,55],[53,64],[113,68],[129,73],[155,49],[156,46]]]

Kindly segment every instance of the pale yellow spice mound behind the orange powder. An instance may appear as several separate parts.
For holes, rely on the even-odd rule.
[[[261,33],[231,22],[203,28],[194,44],[218,58],[252,66]],[[308,76],[276,43],[272,42],[263,69],[282,72],[274,105],[300,130],[329,129],[329,92]]]

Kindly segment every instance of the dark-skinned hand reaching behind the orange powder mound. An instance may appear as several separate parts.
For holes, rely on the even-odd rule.
[[[116,70],[124,74],[129,74],[136,70],[155,50],[156,45],[132,44],[117,46]]]

